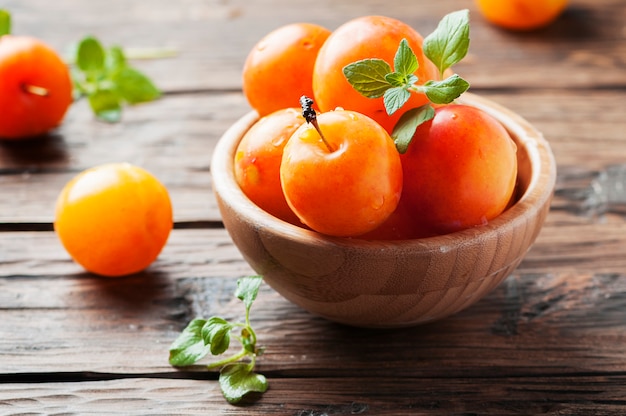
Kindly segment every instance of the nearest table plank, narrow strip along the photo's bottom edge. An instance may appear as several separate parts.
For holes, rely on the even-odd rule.
[[[0,385],[7,414],[621,415],[624,375],[521,378],[270,379],[253,406],[231,406],[216,381],[122,379]],[[567,386],[563,388],[562,386]],[[255,398],[256,399],[256,398]],[[250,404],[250,402],[247,402]]]

